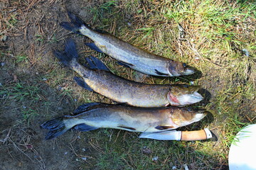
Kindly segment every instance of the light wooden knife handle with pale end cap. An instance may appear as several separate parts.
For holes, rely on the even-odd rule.
[[[207,128],[204,130],[194,130],[194,131],[182,131],[181,140],[191,141],[191,140],[207,140],[213,137],[210,130]]]

